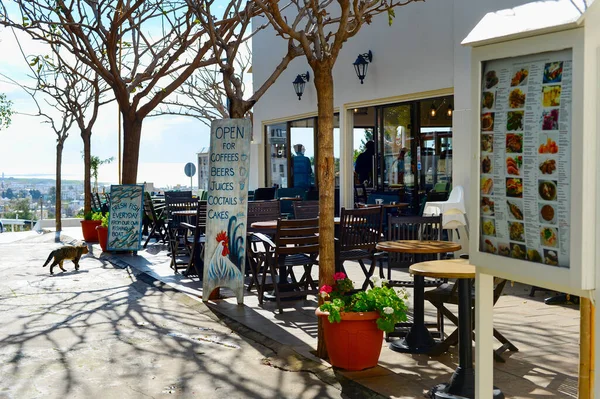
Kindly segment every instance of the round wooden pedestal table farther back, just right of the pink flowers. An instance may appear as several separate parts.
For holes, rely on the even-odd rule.
[[[424,255],[454,252],[458,251],[461,246],[452,241],[399,240],[379,242],[376,248],[378,251]],[[435,340],[425,327],[425,277],[415,274],[414,278],[413,325],[406,337],[390,343],[390,349],[397,352],[427,353],[435,347]]]

